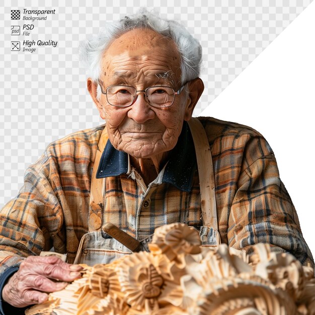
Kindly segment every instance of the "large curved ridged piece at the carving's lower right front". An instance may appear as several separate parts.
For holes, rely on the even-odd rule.
[[[249,275],[247,274],[246,277]],[[183,281],[194,315],[296,315],[294,300],[257,276],[211,279],[200,289],[192,277]],[[198,288],[198,290],[196,290]],[[186,307],[188,305],[185,305]],[[187,307],[188,308],[188,307]]]

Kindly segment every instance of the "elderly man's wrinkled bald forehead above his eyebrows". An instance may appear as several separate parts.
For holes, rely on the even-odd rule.
[[[145,58],[144,58],[145,56]],[[101,62],[102,72],[128,67],[134,60],[150,60],[152,67],[161,72],[180,76],[181,57],[175,42],[153,30],[134,29],[115,39],[104,52]],[[125,62],[124,62],[125,61]],[[116,67],[116,64],[118,65]],[[146,64],[147,68],[147,63]],[[141,68],[141,62],[138,62]],[[103,72],[103,73],[104,73]]]

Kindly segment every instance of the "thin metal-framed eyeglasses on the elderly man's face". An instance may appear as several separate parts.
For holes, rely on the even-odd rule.
[[[149,87],[145,90],[136,90],[134,87],[130,86],[109,86],[104,92],[102,84],[103,82],[98,82],[101,91],[106,95],[107,102],[110,105],[117,107],[128,107],[132,105],[137,99],[137,93],[143,92],[145,100],[147,103],[156,108],[169,107],[174,103],[175,96],[179,95],[185,84],[177,91],[170,87]]]

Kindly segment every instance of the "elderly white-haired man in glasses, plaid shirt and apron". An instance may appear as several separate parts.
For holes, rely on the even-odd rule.
[[[205,246],[250,253],[263,242],[313,264],[262,135],[213,118],[188,125],[203,92],[201,48],[182,26],[140,13],[111,25],[82,54],[106,125],[51,143],[2,209],[3,313],[43,302],[80,277],[78,263],[130,253],[102,233],[106,222],[137,240],[184,222]],[[52,247],[67,263],[39,256]]]

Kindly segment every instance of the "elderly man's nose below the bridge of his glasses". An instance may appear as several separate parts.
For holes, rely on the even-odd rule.
[[[137,91],[136,98],[128,111],[128,117],[136,123],[142,124],[147,120],[153,119],[154,116],[155,113],[147,102],[144,91]]]

